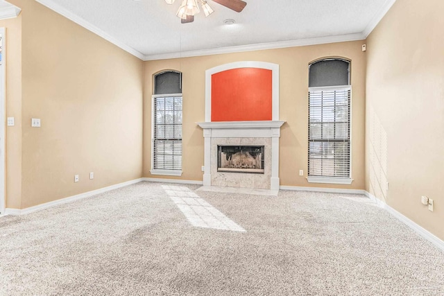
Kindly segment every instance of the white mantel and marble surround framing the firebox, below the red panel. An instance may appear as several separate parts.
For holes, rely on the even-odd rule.
[[[279,190],[279,137],[284,121],[219,121],[197,124],[203,128],[205,138],[203,186]],[[218,145],[264,146],[264,174],[218,172]]]

